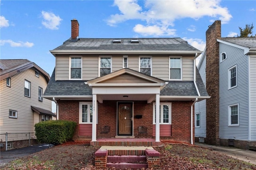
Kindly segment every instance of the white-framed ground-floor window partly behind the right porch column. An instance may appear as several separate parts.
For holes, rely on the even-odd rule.
[[[153,108],[153,124],[156,124],[156,103]],[[160,103],[160,124],[171,124],[171,103]]]

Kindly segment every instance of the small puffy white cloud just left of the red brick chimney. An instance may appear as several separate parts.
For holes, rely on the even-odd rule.
[[[58,30],[59,26],[60,26],[60,22],[62,21],[62,19],[59,16],[56,16],[54,13],[52,12],[45,12],[42,11],[42,17],[44,18],[44,20],[42,21],[42,24],[50,29],[50,30]]]

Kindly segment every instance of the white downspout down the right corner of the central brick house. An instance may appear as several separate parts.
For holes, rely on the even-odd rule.
[[[200,96],[198,87],[196,85],[196,58],[198,54],[196,53],[195,57],[194,57],[194,78],[193,78],[193,82],[196,88],[196,93],[198,94],[198,97]],[[194,103],[191,105],[191,109],[190,109],[190,139],[191,139],[191,144],[193,144],[193,106],[194,104],[197,102],[198,98],[196,98],[196,100],[194,101]]]

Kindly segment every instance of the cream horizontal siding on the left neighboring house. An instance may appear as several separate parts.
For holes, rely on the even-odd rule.
[[[24,80],[31,82],[31,97],[24,96]],[[52,102],[48,99],[38,101],[38,86],[43,93],[47,81],[42,74],[35,76],[33,68],[27,69],[11,77],[11,87],[6,86],[6,79],[0,81],[0,133],[34,132],[34,113],[32,106],[51,111]],[[9,118],[9,109],[18,111],[18,118]]]

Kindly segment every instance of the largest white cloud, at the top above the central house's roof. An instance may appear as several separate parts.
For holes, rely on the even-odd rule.
[[[144,8],[138,4],[138,0],[115,0],[114,6],[120,10],[120,14],[111,15],[107,24],[116,26],[126,20],[143,20],[146,24],[136,24],[134,31],[142,35],[172,35],[170,27],[174,21],[182,18],[198,20],[208,16],[211,20],[222,20],[222,24],[232,18],[228,8],[220,6],[220,0],[145,0]],[[189,31],[193,31],[189,28]],[[138,31],[138,32],[137,32]],[[173,31],[171,31],[173,32]]]

